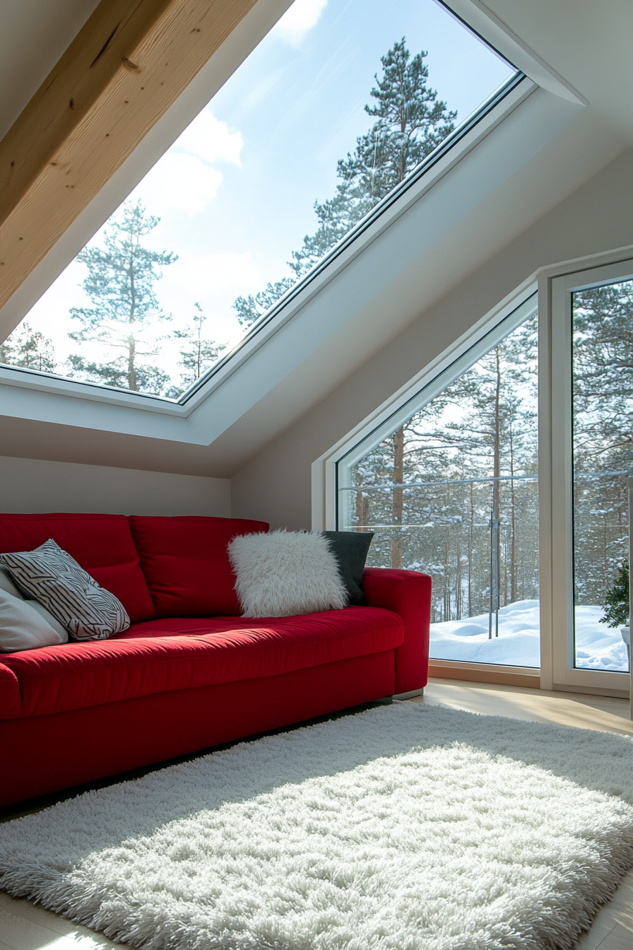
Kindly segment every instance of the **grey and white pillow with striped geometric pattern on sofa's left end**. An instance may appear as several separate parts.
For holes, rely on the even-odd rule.
[[[0,561],[20,590],[44,604],[74,640],[104,640],[129,627],[121,600],[52,538],[34,551],[0,555]]]

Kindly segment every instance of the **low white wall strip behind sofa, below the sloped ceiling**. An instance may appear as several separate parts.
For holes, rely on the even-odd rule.
[[[0,456],[0,511],[231,515],[228,479]]]

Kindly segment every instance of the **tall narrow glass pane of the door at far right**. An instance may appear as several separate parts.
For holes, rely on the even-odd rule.
[[[628,506],[633,468],[633,281],[573,295],[574,656],[628,671]]]

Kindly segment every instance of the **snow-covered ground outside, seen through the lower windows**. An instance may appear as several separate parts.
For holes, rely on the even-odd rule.
[[[626,673],[628,660],[620,630],[599,620],[602,607],[576,607],[576,666]],[[493,631],[494,635],[494,631]],[[519,600],[499,611],[499,636],[488,638],[488,614],[431,624],[430,656],[471,663],[539,666],[538,600]]]

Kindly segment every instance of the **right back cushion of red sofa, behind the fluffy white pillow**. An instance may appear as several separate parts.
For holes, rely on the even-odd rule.
[[[227,545],[235,535],[268,531],[268,523],[133,515],[130,524],[157,617],[240,613]]]

